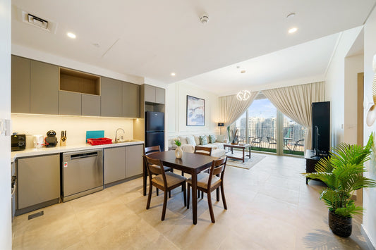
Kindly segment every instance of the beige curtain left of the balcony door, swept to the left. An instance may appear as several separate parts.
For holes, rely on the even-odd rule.
[[[247,108],[252,104],[258,92],[251,92],[250,98],[247,101],[239,101],[236,99],[236,94],[231,96],[219,97],[219,106],[221,108],[221,122],[225,127],[234,123]]]

